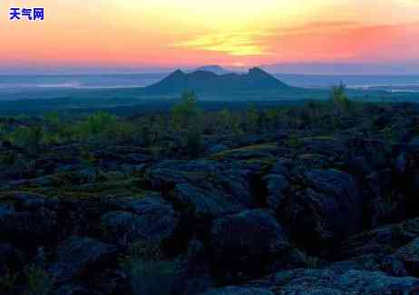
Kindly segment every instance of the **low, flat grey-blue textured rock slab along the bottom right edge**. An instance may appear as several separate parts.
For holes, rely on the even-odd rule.
[[[235,294],[231,291],[236,288],[238,294],[253,294],[251,291],[255,289],[260,294],[416,294],[419,280],[390,277],[379,271],[299,269],[278,272],[241,287],[222,288],[219,293],[218,290],[211,290],[205,294]]]

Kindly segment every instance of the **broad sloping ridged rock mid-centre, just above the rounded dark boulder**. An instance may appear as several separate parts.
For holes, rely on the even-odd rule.
[[[218,216],[255,208],[252,176],[258,167],[215,161],[170,161],[151,167],[151,188],[197,215]]]

